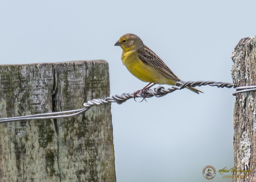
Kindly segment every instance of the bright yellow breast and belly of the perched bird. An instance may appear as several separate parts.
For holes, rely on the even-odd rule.
[[[128,71],[141,81],[164,84],[168,78],[160,74],[156,68],[144,64],[138,57],[137,51],[123,51],[121,60]]]

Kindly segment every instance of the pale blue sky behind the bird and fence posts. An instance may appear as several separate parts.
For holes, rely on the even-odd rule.
[[[126,70],[113,45],[134,33],[179,78],[232,82],[230,57],[241,38],[256,35],[255,7],[234,0],[0,1],[0,64],[105,59],[111,95],[133,93],[146,83]],[[234,89],[200,90],[112,104],[117,181],[207,181],[206,165],[233,167]]]

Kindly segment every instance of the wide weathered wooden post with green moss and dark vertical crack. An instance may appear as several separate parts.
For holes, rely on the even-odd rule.
[[[109,96],[104,60],[0,65],[0,118]],[[0,181],[116,181],[110,105],[72,118],[0,124]]]

